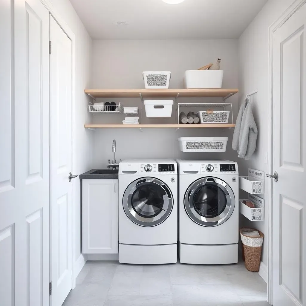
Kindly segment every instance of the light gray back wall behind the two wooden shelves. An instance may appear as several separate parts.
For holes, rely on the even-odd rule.
[[[197,69],[221,58],[224,70],[223,88],[238,88],[237,39],[211,40],[94,40],[92,46],[93,88],[144,88],[143,71],[171,71],[169,88],[183,88],[185,70]],[[140,123],[177,123],[175,108],[172,118],[148,119],[140,99],[100,99],[121,101],[125,106],[139,106]],[[237,116],[238,95],[227,101],[233,103],[234,121]],[[215,99],[178,99],[178,102],[222,102]],[[121,123],[125,115],[97,114],[93,123]],[[105,167],[112,159],[112,140],[116,139],[116,159],[185,158],[235,159],[231,148],[233,129],[100,129],[94,133],[93,165]],[[229,137],[226,153],[183,153],[177,138],[182,136]]]

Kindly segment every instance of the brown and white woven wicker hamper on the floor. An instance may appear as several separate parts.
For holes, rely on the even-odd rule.
[[[257,231],[260,237],[248,237],[243,235],[245,232]],[[263,246],[263,233],[251,228],[242,228],[239,230],[242,241],[242,258],[248,271],[258,272]]]

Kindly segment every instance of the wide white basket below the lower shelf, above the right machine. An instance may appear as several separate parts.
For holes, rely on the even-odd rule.
[[[181,137],[182,152],[225,152],[228,137]]]

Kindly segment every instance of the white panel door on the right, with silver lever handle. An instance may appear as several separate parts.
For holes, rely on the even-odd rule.
[[[306,5],[273,37],[274,306],[306,305]]]

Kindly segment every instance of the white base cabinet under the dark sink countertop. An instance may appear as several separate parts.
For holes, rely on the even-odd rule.
[[[118,253],[118,180],[82,180],[82,252]]]

